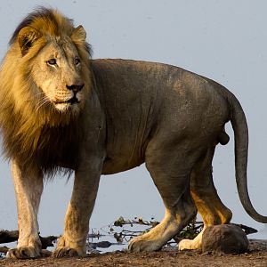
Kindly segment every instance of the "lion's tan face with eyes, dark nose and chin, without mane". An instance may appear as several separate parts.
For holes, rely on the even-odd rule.
[[[53,37],[33,61],[32,78],[40,90],[40,105],[78,111],[85,101],[82,63],[69,37]]]

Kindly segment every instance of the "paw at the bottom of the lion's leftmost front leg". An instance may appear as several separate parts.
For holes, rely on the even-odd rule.
[[[33,259],[41,257],[41,250],[36,247],[17,247],[10,249],[6,257],[12,259]]]

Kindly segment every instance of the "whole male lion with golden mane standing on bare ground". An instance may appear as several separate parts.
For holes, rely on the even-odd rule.
[[[131,251],[158,250],[201,214],[205,227],[229,223],[231,211],[214,188],[218,142],[235,132],[236,179],[247,213],[247,123],[239,101],[214,81],[144,61],[91,60],[85,29],[41,8],[16,28],[0,73],[0,124],[11,158],[20,238],[9,257],[41,255],[37,212],[44,177],[75,171],[56,257],[85,255],[89,218],[101,174],[143,162],[166,206],[161,223],[132,239]],[[198,248],[201,234],[179,247]]]

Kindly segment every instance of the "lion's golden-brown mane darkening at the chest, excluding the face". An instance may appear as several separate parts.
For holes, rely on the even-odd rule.
[[[20,35],[24,28],[34,28],[40,35],[33,46],[25,42],[28,53],[21,53]],[[54,174],[57,164],[75,167],[80,114],[62,113],[40,106],[34,94],[31,77],[34,59],[50,36],[61,38],[73,34],[73,21],[52,9],[39,8],[20,22],[10,40],[0,69],[0,126],[6,158],[15,158],[21,166],[40,166],[44,173]],[[71,38],[83,67],[85,91],[91,87],[89,60],[90,45]],[[24,46],[23,46],[24,47]],[[74,142],[76,141],[76,142]],[[55,148],[56,147],[56,148]],[[64,157],[63,157],[64,156]]]

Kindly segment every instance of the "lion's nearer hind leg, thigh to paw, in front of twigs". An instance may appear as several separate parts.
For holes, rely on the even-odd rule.
[[[197,213],[190,197],[190,162],[194,161],[195,156],[177,158],[177,150],[179,148],[165,149],[158,153],[156,148],[147,153],[146,166],[164,201],[166,213],[155,228],[130,241],[130,251],[160,249],[190,223]]]

